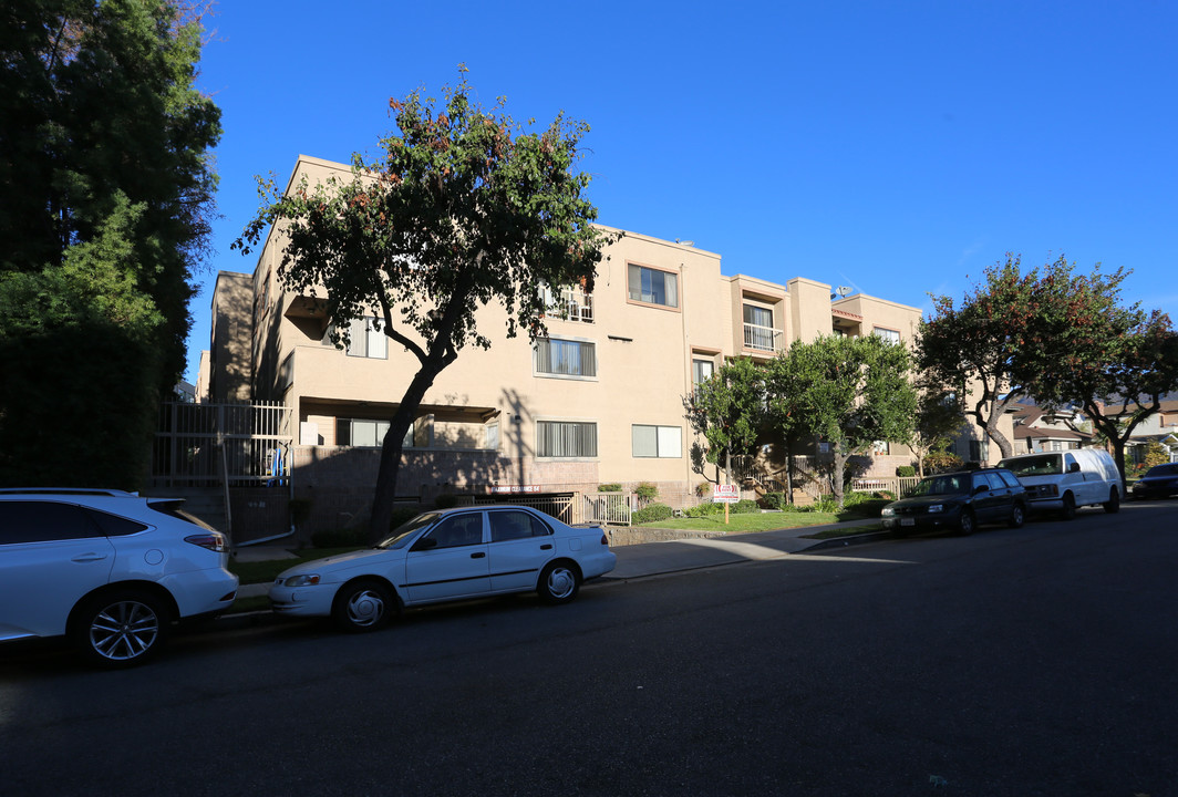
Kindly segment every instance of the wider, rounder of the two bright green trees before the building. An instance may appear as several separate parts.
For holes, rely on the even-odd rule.
[[[834,497],[842,507],[843,469],[876,440],[907,443],[916,412],[908,350],[876,336],[795,343],[769,365],[770,404],[829,444]]]

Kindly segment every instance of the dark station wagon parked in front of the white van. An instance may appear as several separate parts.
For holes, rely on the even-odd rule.
[[[895,531],[954,529],[973,533],[981,523],[1018,529],[1026,520],[1027,496],[1005,467],[939,473],[921,479],[907,498],[884,507],[884,527]]]

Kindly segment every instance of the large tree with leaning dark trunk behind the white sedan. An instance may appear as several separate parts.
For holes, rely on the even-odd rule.
[[[589,175],[574,171],[588,125],[557,115],[528,132],[502,99],[490,109],[474,104],[459,69],[444,104],[418,91],[389,101],[397,131],[380,140],[378,159],[353,155],[350,181],[303,181],[282,195],[259,180],[266,202],[234,243],[249,252],[266,227],[282,225],[283,284],[325,291],[337,344],[346,321],[375,313],[417,358],[380,451],[373,538],[388,532],[402,440],[425,392],[464,346],[491,345],[475,311],[502,303],[508,337],[543,336],[541,285],[584,280],[591,290],[607,241],[582,195]]]

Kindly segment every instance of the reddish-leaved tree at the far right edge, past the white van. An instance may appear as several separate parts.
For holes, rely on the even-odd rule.
[[[1113,447],[1121,480],[1133,430],[1178,390],[1178,334],[1170,317],[1120,304],[1127,273],[1077,274],[1063,263],[1035,286],[1045,324],[1015,372],[1047,407],[1079,405]],[[1123,485],[1124,486],[1124,485]]]

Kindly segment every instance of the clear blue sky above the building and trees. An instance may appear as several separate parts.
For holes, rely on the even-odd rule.
[[[348,161],[390,97],[457,65],[517,120],[591,126],[603,224],[691,240],[726,274],[807,277],[928,310],[1020,253],[1131,268],[1178,321],[1178,4],[233,0],[200,87],[224,113],[210,270],[299,153]]]

